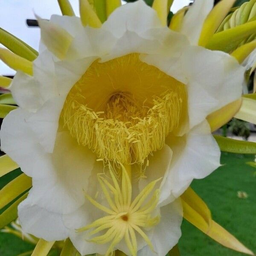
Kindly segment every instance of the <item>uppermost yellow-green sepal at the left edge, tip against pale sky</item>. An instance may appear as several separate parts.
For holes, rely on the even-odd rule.
[[[0,28],[0,43],[13,53],[29,61],[34,61],[38,56],[35,49],[2,28]]]

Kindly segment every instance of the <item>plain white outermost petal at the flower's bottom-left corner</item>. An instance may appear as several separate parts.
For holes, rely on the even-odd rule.
[[[29,195],[18,206],[18,216],[23,232],[32,234],[47,241],[58,241],[67,238],[61,214],[49,212],[31,202]]]

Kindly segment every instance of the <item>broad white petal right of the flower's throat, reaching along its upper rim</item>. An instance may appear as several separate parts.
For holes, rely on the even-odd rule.
[[[188,46],[179,58],[159,54],[141,59],[187,85],[190,128],[241,97],[244,67],[224,52]]]

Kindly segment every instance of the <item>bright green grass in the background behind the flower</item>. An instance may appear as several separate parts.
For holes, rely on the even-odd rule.
[[[245,165],[254,156],[223,153],[221,168],[204,180],[195,180],[192,188],[204,199],[212,211],[212,218],[256,252],[256,177],[255,168]],[[0,179],[0,187],[19,172]],[[237,191],[245,191],[248,198],[240,199]],[[187,221],[182,224],[179,241],[181,256],[242,256],[216,243]],[[0,233],[0,256],[17,256],[32,250],[33,245],[10,234]],[[54,254],[55,255],[55,254]]]

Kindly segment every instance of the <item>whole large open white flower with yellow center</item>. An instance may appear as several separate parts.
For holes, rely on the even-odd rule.
[[[0,132],[2,149],[33,179],[18,208],[24,232],[48,241],[70,237],[82,255],[109,249],[135,255],[137,248],[140,256],[155,255],[152,250],[165,256],[177,244],[177,198],[194,178],[220,165],[205,119],[239,99],[244,79],[244,68],[230,55],[196,46],[212,4],[196,1],[183,34],[163,27],[143,0],[119,7],[99,29],[83,27],[78,17],[40,20],[33,76],[17,72],[11,90],[20,108],[6,116]],[[132,222],[145,236],[125,226],[107,243],[93,242],[87,228],[102,228],[95,221],[112,218],[104,222],[108,228],[116,227],[116,218],[131,221],[131,202],[123,199],[129,197],[123,192],[116,199],[126,200],[120,212],[100,183],[104,172],[117,195],[113,173],[122,175],[121,166],[131,174],[132,182],[124,183],[131,185],[129,200],[154,184],[154,193],[143,199],[146,204],[151,198],[154,209]],[[98,209],[107,203],[115,209],[111,217]]]

